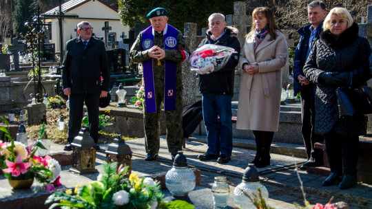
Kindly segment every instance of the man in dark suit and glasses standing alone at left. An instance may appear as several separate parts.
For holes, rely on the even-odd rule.
[[[63,93],[70,96],[70,120],[68,122],[68,145],[79,134],[83,119],[83,104],[87,106],[90,136],[98,145],[99,98],[107,97],[110,74],[105,43],[92,37],[93,28],[89,22],[78,23],[79,37],[66,43],[62,64]]]

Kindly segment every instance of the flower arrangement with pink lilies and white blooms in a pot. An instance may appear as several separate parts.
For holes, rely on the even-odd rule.
[[[8,126],[8,121],[1,116],[0,118]],[[43,144],[35,142],[26,147],[21,142],[14,142],[8,128],[0,127],[0,131],[8,138],[8,142],[0,141],[0,168],[6,178],[12,180],[35,178],[41,184],[45,184],[46,190],[54,190],[54,186],[61,186],[59,162],[48,155],[45,157],[35,155],[37,148],[45,149]]]

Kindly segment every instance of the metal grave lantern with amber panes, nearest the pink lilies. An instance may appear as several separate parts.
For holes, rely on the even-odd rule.
[[[74,138],[72,145],[72,168],[70,171],[78,174],[96,173],[96,149],[93,138],[86,128],[82,128]]]

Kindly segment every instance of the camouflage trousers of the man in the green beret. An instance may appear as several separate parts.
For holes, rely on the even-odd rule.
[[[157,89],[156,89],[157,90]],[[143,100],[143,124],[145,126],[145,147],[146,153],[158,153],[160,148],[160,124],[161,102],[164,98],[164,91],[155,91],[156,113],[146,113],[146,104]],[[168,151],[177,154],[182,150],[183,126],[182,126],[182,91],[176,91],[176,109],[165,111],[165,125],[167,127]],[[163,121],[162,121],[163,122]]]

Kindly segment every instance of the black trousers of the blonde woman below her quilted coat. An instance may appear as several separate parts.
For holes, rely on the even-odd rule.
[[[324,135],[324,140],[331,172],[342,174],[343,164],[344,175],[356,175],[359,148],[358,135],[344,137],[332,130]]]

